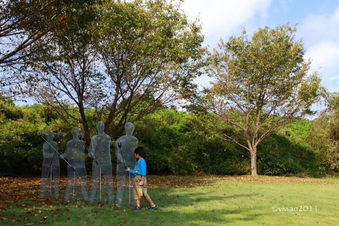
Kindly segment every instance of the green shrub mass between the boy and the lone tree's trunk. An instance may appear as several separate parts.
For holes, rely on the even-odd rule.
[[[247,174],[246,150],[211,136],[200,123],[193,114],[173,109],[157,111],[137,123],[135,136],[147,150],[148,172]]]

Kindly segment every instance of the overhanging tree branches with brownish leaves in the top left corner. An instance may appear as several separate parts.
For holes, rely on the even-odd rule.
[[[0,2],[0,95],[22,94],[22,81],[30,79],[23,73],[28,70],[27,58],[44,48],[52,40],[53,33],[63,32],[65,24],[81,26],[74,20],[89,20],[88,13],[85,17],[79,11],[91,4],[91,0]],[[47,34],[49,39],[46,39]]]

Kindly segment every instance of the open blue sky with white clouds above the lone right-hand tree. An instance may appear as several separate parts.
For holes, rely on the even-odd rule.
[[[311,70],[322,75],[322,85],[339,92],[339,1],[305,0],[185,0],[181,9],[189,20],[202,23],[204,46],[217,47],[220,38],[239,36],[243,27],[249,37],[259,27],[297,25],[296,39],[303,39],[311,58]],[[196,82],[208,85],[202,76]]]

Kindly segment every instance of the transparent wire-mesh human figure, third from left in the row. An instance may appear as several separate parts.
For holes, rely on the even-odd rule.
[[[88,157],[93,158],[90,203],[113,202],[113,177],[110,159],[110,137],[104,133],[104,123],[97,123],[98,134],[93,136]],[[97,164],[98,163],[98,164]]]

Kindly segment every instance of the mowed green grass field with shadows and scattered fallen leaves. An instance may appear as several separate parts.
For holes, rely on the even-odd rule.
[[[39,200],[39,177],[0,178],[0,225],[339,225],[339,178],[147,176],[159,208],[141,211],[65,203],[65,180],[60,199]]]

